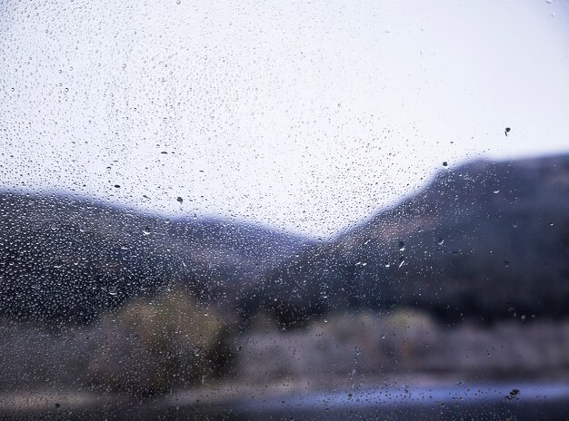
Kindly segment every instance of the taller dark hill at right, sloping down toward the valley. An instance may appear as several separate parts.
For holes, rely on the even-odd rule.
[[[569,315],[569,155],[475,161],[260,276],[243,311],[284,325],[345,308],[446,321]]]

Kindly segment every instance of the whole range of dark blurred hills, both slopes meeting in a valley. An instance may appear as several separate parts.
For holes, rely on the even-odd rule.
[[[284,326],[343,309],[438,318],[569,316],[569,156],[444,168],[323,244],[225,220],[166,219],[0,193],[0,315],[92,321],[178,283]]]

